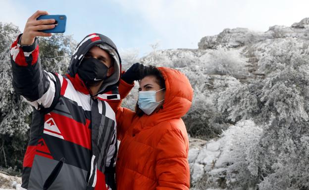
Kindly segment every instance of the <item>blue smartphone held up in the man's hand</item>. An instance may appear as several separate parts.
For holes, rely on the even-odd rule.
[[[42,19],[55,19],[55,26],[53,29],[42,30],[41,32],[45,33],[64,33],[65,32],[65,24],[66,24],[66,16],[65,15],[41,15],[37,18],[37,20]]]

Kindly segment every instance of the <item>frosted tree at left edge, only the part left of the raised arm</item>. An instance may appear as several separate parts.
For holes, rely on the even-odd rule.
[[[0,23],[0,165],[21,165],[31,108],[15,94],[11,84],[9,47],[20,33],[12,24]]]

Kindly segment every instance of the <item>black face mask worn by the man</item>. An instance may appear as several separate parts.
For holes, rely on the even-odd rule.
[[[93,85],[107,78],[108,69],[100,60],[90,57],[83,59],[77,73],[86,84]]]

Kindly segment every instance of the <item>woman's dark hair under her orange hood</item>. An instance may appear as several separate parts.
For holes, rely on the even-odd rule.
[[[165,88],[165,80],[162,76],[161,72],[155,66],[144,66],[139,69],[139,76],[140,79],[145,78],[146,76],[154,76],[155,82],[162,88]],[[142,116],[144,112],[139,108],[138,104],[136,103],[135,112],[138,116]]]

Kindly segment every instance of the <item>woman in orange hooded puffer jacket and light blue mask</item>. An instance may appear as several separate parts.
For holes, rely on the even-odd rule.
[[[116,103],[117,190],[189,190],[189,141],[181,119],[192,103],[189,80],[174,69],[136,63],[122,76],[121,99],[139,79],[136,112]]]

